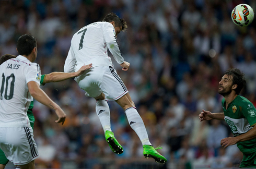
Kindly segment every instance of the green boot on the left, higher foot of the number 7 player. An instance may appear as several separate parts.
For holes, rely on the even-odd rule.
[[[111,148],[111,150],[114,153],[117,153],[117,154],[122,154],[123,153],[123,147],[118,142],[118,140],[114,138],[114,134],[113,134],[112,131],[107,130],[105,132],[105,138],[106,138],[106,141],[109,144],[109,147]]]

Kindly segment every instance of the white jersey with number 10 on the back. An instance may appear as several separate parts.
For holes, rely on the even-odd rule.
[[[40,66],[19,55],[0,65],[0,76],[0,127],[29,127],[32,96],[27,83],[40,85]]]

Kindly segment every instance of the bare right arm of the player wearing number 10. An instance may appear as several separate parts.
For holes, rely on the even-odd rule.
[[[42,89],[40,89],[39,84],[35,81],[28,82],[28,90],[34,99],[39,101],[40,103],[52,108],[59,119],[55,120],[56,123],[64,123],[66,119],[66,114],[63,112],[61,107],[53,102],[47,94],[44,93]]]

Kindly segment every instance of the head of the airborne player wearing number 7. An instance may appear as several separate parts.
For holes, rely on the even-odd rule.
[[[110,22],[115,29],[115,35],[118,35],[121,31],[125,31],[127,29],[127,23],[124,19],[119,18],[114,13],[109,13],[104,19],[103,22]]]

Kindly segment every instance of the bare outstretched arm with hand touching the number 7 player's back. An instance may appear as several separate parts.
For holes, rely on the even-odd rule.
[[[43,83],[59,82],[66,79],[74,78],[82,75],[85,72],[85,70],[91,67],[92,67],[92,64],[82,66],[78,71],[74,73],[53,72],[48,75],[45,75],[45,79]]]

